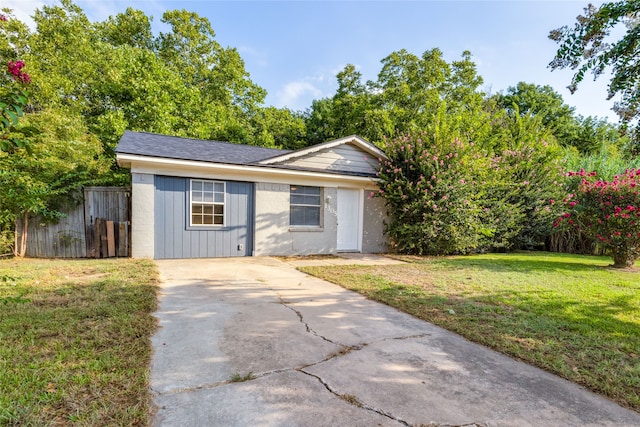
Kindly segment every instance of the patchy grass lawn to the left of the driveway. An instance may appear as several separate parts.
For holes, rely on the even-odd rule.
[[[0,261],[0,425],[148,425],[157,277],[146,260]]]

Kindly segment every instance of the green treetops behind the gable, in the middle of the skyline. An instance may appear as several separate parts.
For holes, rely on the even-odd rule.
[[[478,91],[482,78],[469,52],[448,63],[439,49],[420,57],[402,49],[381,62],[376,81],[362,82],[362,75],[351,64],[338,73],[336,94],[314,101],[306,113],[310,143],[358,134],[383,144],[387,137],[430,126],[441,108],[456,117],[466,138],[490,133],[484,95]]]

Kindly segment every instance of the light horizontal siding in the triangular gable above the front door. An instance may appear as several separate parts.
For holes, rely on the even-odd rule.
[[[378,159],[353,145],[343,144],[285,161],[281,164],[309,169],[375,173]]]

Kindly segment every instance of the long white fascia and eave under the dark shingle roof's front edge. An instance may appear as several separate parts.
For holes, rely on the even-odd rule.
[[[315,183],[316,185],[376,187],[376,178],[279,169],[261,166],[228,165],[193,160],[118,154],[118,164],[134,173],[226,179],[232,181],[273,182],[278,184]]]

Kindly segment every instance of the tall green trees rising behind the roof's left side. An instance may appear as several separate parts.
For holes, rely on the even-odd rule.
[[[157,36],[139,10],[92,23],[70,0],[42,6],[34,21],[36,30],[22,41],[38,81],[34,108],[79,114],[102,142],[112,183],[128,179],[113,152],[125,129],[268,147],[305,144],[301,117],[264,107],[266,92],[250,80],[238,51],[220,46],[209,21],[193,12],[165,12],[169,29]]]

